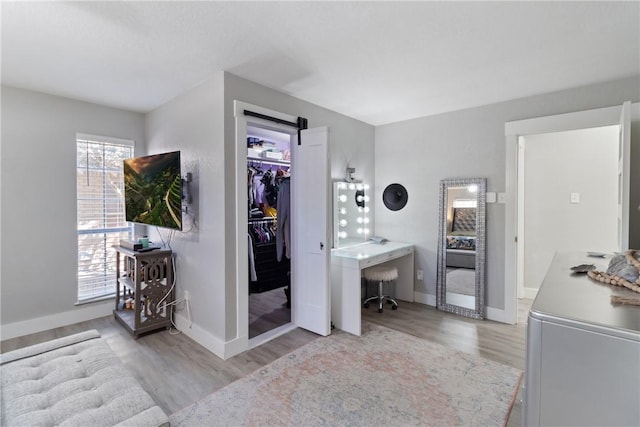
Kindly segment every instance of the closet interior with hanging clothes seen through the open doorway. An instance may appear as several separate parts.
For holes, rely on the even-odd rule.
[[[247,128],[249,338],[291,321],[290,136]]]

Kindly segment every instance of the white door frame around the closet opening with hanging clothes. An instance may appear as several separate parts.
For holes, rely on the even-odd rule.
[[[248,104],[242,101],[233,101],[235,117],[235,161],[236,161],[236,331],[237,338],[233,341],[233,354],[241,353],[250,348],[256,347],[268,340],[274,339],[296,328],[293,322],[280,326],[272,331],[262,334],[249,340],[249,245],[247,240],[247,128],[259,127],[272,131],[289,134],[291,146],[298,143],[298,129],[284,124],[274,123],[269,120],[247,116],[245,110],[274,117],[283,121],[295,123],[297,117],[273,111],[268,108]],[[291,164],[295,162],[293,150],[291,153]],[[292,199],[291,203],[294,203]],[[294,300],[291,299],[292,314]],[[293,319],[292,319],[293,320]]]

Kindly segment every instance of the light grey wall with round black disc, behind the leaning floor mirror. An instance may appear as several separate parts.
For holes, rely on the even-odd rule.
[[[416,291],[434,296],[441,179],[486,177],[487,191],[504,191],[505,122],[621,105],[639,98],[640,78],[634,76],[376,127],[376,233],[416,244],[416,268],[425,274]],[[637,147],[637,141],[632,145]],[[409,192],[407,206],[397,212],[381,203],[382,191],[393,182],[405,185]],[[638,197],[638,187],[632,182],[632,200],[634,194]],[[504,205],[487,204],[485,298],[489,308],[499,310],[505,303],[504,218]]]

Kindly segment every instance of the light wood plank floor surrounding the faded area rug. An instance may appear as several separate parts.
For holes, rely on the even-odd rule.
[[[441,343],[467,353],[524,369],[526,313],[530,300],[519,305],[519,324],[505,325],[455,316],[423,304],[401,302],[396,311],[363,309],[363,320]],[[208,352],[184,334],[162,330],[134,340],[113,317],[103,317],[0,343],[1,352],[50,339],[97,329],[131,374],[171,414],[242,378],[273,360],[311,342],[317,335],[296,329],[228,360]],[[516,404],[509,426],[520,425]]]

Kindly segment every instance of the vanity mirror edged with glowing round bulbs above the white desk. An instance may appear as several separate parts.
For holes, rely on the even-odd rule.
[[[333,247],[364,243],[371,235],[369,186],[355,182],[333,183]]]

